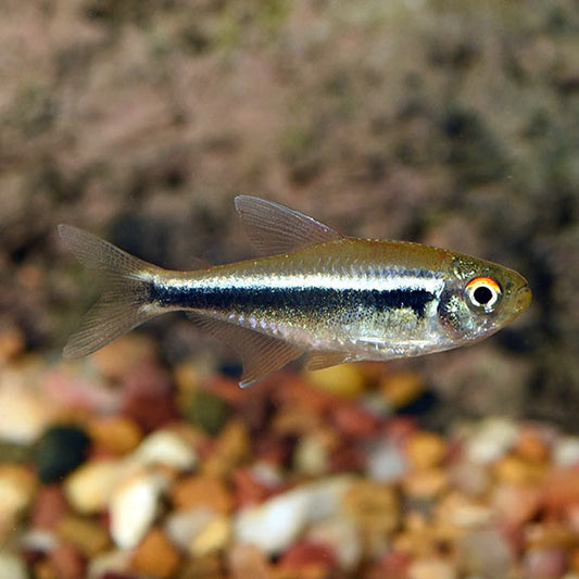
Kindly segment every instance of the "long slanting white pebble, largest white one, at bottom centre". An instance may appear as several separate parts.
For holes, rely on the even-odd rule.
[[[237,542],[257,546],[267,555],[286,549],[313,521],[335,516],[350,477],[332,477],[285,492],[238,513]]]

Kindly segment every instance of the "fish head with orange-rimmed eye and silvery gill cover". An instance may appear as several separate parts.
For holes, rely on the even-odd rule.
[[[501,265],[456,255],[438,306],[439,322],[456,344],[476,342],[518,317],[531,301],[527,280]]]

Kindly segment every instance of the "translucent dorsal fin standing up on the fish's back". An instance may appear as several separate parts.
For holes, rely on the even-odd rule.
[[[265,255],[288,253],[341,237],[299,211],[257,197],[236,197],[236,210],[249,238]]]

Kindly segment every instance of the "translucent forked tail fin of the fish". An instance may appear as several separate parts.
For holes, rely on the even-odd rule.
[[[64,357],[91,354],[159,314],[149,301],[149,282],[163,269],[76,227],[59,225],[59,235],[80,263],[105,278],[101,297],[68,339]]]

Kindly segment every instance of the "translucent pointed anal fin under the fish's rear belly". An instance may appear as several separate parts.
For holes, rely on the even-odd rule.
[[[239,382],[241,388],[262,380],[303,354],[299,348],[259,331],[215,319],[199,312],[189,312],[187,315],[199,327],[223,340],[240,355],[243,364],[243,375]]]

